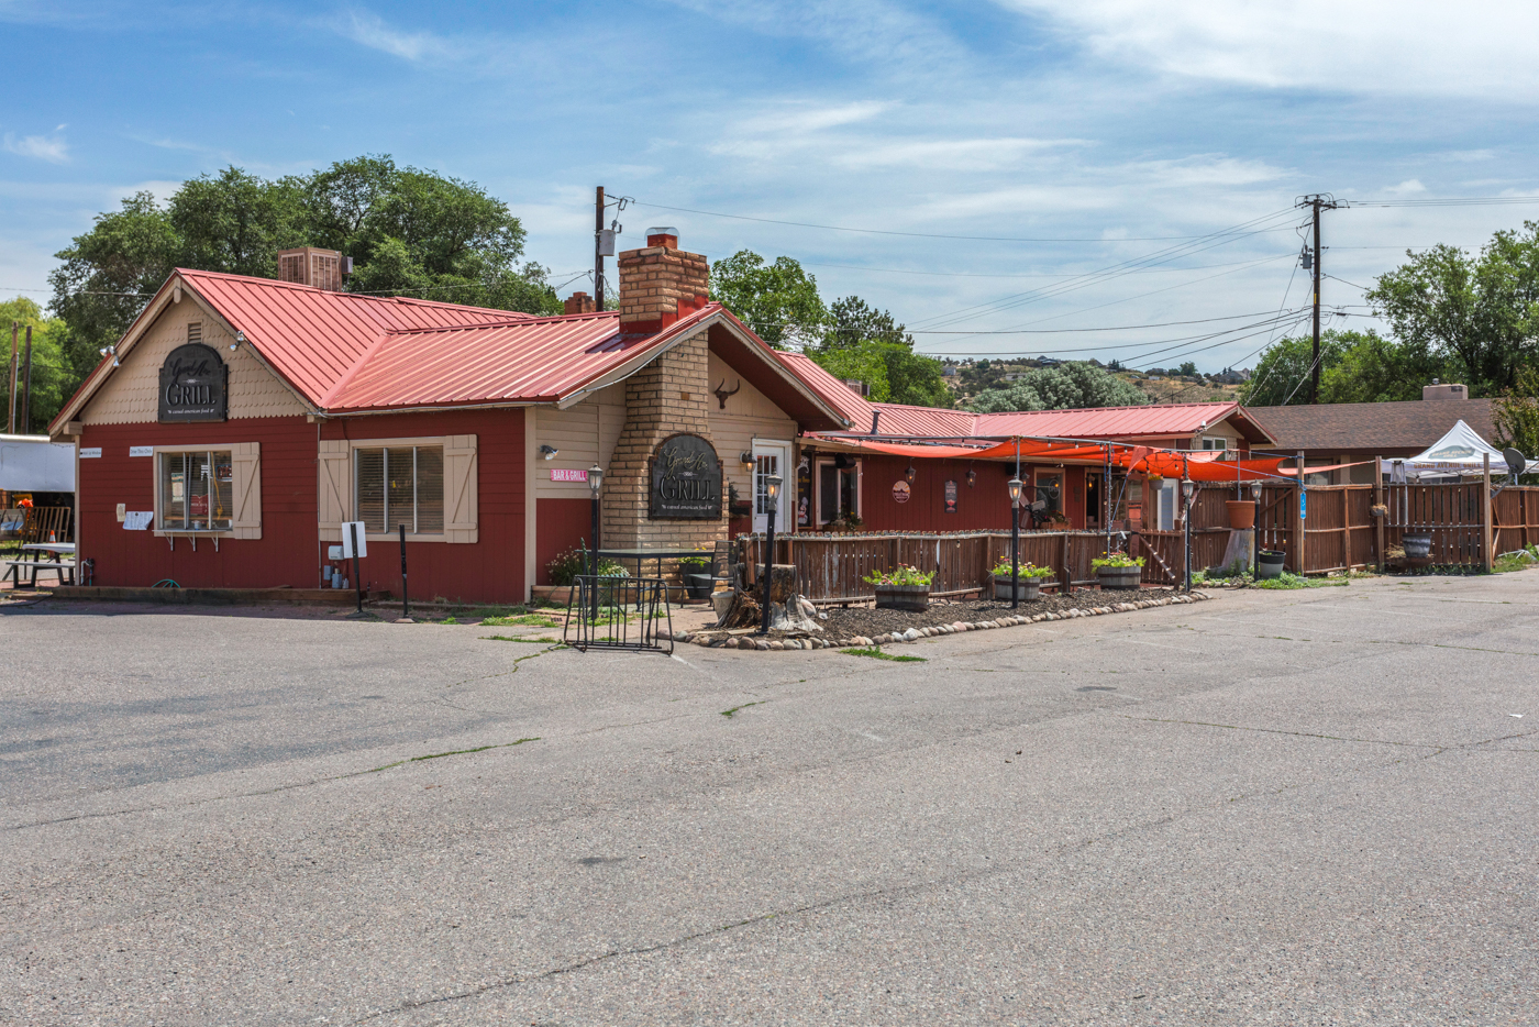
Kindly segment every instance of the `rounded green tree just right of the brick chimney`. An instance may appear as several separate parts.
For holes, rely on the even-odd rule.
[[[791,257],[765,263],[754,251],[739,249],[717,260],[711,265],[711,299],[777,350],[814,345],[828,325],[817,279]]]

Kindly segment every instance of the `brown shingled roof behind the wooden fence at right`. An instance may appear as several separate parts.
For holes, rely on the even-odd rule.
[[[1496,437],[1488,399],[1407,400],[1400,403],[1302,403],[1247,406],[1277,440],[1279,453],[1324,450],[1365,456],[1413,456],[1464,420],[1482,439]]]

